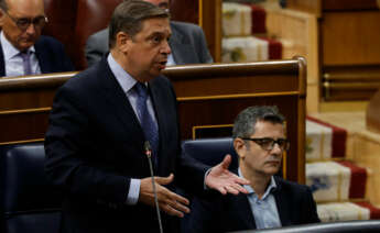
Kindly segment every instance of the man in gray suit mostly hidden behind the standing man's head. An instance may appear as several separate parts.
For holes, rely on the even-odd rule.
[[[169,0],[143,0],[169,10]],[[193,23],[171,21],[172,36],[169,41],[172,54],[167,65],[213,63],[203,30]],[[108,27],[90,35],[86,43],[87,65],[99,62],[108,53]]]

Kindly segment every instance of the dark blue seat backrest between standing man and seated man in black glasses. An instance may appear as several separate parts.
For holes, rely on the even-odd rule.
[[[234,148],[234,141],[230,137],[184,141],[182,143],[182,154],[209,166],[219,164],[226,154],[230,154],[232,163],[229,169],[238,167],[238,156]]]

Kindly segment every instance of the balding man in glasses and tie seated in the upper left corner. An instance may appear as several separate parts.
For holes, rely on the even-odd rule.
[[[43,0],[0,0],[0,77],[74,70],[63,45],[41,36]]]

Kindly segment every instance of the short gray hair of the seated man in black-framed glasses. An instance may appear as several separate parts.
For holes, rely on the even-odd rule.
[[[283,124],[284,116],[275,106],[253,106],[241,111],[234,122],[232,137],[250,137],[258,121]]]

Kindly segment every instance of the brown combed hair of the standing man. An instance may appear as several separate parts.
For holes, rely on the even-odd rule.
[[[109,47],[116,45],[116,35],[126,32],[133,37],[142,30],[144,20],[154,18],[170,18],[169,12],[145,1],[127,0],[121,2],[113,11],[109,23]]]

